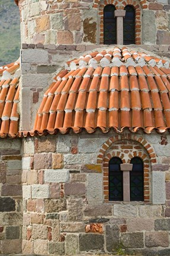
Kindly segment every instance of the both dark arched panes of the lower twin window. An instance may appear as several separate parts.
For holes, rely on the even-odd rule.
[[[138,157],[134,157],[130,161],[133,168],[130,171],[130,201],[143,201],[143,161]],[[109,200],[123,201],[123,171],[120,169],[122,161],[120,158],[114,157],[109,161]]]

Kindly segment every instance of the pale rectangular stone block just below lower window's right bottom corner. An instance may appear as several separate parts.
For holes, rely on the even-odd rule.
[[[155,218],[162,216],[162,207],[161,206],[139,206],[139,216],[146,218]]]

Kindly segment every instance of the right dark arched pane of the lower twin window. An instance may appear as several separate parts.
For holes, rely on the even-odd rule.
[[[130,201],[143,201],[143,161],[138,157],[131,159],[130,164],[133,168],[130,171]]]

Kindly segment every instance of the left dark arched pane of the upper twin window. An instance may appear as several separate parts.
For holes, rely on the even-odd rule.
[[[104,44],[116,44],[116,18],[114,5],[104,7]]]

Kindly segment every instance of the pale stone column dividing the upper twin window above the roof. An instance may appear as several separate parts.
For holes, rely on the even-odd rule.
[[[117,18],[117,44],[123,44],[123,18],[126,15],[124,10],[114,11],[114,16]]]

